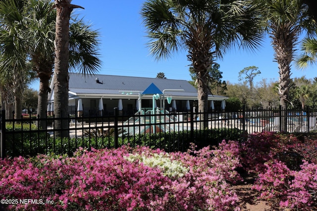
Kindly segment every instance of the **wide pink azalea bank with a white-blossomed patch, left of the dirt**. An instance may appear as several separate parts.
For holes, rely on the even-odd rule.
[[[233,167],[212,168],[212,159],[218,156],[206,159],[210,153],[207,149],[191,155],[125,146],[81,149],[74,157],[3,159],[0,198],[54,202],[8,205],[16,211],[239,210],[237,195],[223,175]],[[142,162],[143,156],[153,162]]]

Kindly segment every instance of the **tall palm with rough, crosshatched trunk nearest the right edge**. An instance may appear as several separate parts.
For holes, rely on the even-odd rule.
[[[295,45],[304,30],[313,32],[314,27],[308,6],[302,0],[257,0],[266,20],[267,31],[274,49],[274,60],[278,64],[278,94],[283,108],[292,104],[289,100],[291,83],[291,62],[296,51]],[[286,130],[287,115],[282,120],[282,129]]]

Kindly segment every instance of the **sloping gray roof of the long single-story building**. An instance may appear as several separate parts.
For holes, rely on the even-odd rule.
[[[99,79],[100,83],[96,82]],[[150,84],[155,84],[159,90],[164,89],[184,89],[184,91],[166,91],[165,93],[177,95],[179,97],[196,97],[197,89],[185,80],[156,79],[144,77],[112,76],[112,75],[82,75],[69,73],[69,91],[75,96],[97,96],[97,95],[118,95],[119,91],[141,91],[148,88]],[[51,87],[53,88],[53,87]],[[51,92],[53,94],[53,91]],[[137,95],[137,93],[134,93]],[[227,97],[213,95],[215,98]],[[53,96],[49,98],[53,99]]]

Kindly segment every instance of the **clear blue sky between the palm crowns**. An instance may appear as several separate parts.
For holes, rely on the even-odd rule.
[[[99,74],[155,78],[163,72],[167,79],[191,80],[186,51],[175,53],[167,60],[156,61],[149,54],[146,43],[146,29],[142,24],[140,9],[145,0],[72,0],[73,4],[85,9],[75,9],[87,23],[100,31],[102,68]],[[269,39],[256,52],[231,49],[220,64],[222,80],[231,84],[239,83],[239,71],[256,66],[261,71],[255,82],[264,79],[278,80],[277,63],[273,62],[273,49]],[[317,66],[298,70],[292,66],[292,78],[317,76]],[[38,89],[38,84],[33,87]]]

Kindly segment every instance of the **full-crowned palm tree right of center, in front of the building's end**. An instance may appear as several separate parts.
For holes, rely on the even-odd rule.
[[[232,46],[255,48],[261,29],[251,0],[147,0],[141,15],[156,59],[188,51],[198,79],[198,109],[208,108],[208,70]],[[207,120],[207,117],[200,117]],[[204,126],[203,126],[204,127]]]

